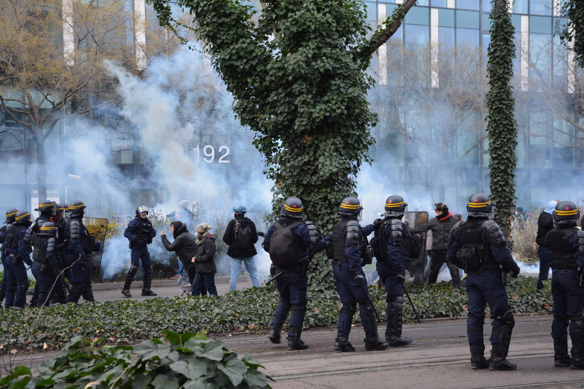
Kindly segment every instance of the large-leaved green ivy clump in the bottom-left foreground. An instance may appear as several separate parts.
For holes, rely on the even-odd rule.
[[[132,346],[96,347],[98,341],[74,337],[33,372],[15,367],[0,380],[4,388],[269,388],[251,355],[237,354],[203,332],[177,334]]]

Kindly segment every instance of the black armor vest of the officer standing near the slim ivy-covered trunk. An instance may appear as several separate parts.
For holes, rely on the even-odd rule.
[[[495,265],[495,257],[482,240],[483,223],[487,218],[474,218],[461,222],[456,229],[458,241],[463,246],[456,253],[457,266],[467,274],[477,275],[486,265]],[[499,269],[497,269],[499,271]]]

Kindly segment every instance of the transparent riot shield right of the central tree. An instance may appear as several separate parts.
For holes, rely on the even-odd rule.
[[[412,238],[418,241],[419,255],[405,262],[405,282],[409,293],[421,293],[424,285],[424,262],[426,260],[426,236],[428,232],[427,212],[406,212],[402,219]]]

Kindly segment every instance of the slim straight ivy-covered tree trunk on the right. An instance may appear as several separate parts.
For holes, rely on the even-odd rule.
[[[495,220],[509,236],[511,215],[515,208],[514,178],[517,166],[517,121],[511,86],[516,51],[513,44],[515,29],[511,14],[507,12],[507,0],[492,0],[491,4],[491,43],[486,67],[491,89],[486,94],[489,113],[485,118],[491,154],[489,178],[491,200],[496,205]]]

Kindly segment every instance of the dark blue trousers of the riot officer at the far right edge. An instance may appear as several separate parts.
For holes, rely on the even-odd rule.
[[[551,334],[555,339],[554,352],[556,355],[568,353],[568,320],[572,338],[572,358],[579,355],[579,350],[573,347],[575,332],[579,331],[571,317],[584,310],[584,288],[579,286],[578,274],[575,270],[553,269],[551,275],[551,293],[554,297],[554,321],[551,324]]]

